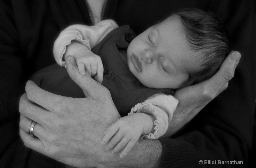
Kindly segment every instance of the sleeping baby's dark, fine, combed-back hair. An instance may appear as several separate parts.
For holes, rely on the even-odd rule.
[[[212,12],[200,9],[176,10],[169,17],[177,17],[183,25],[183,32],[193,57],[202,66],[196,72],[189,72],[188,86],[212,77],[232,51],[228,30],[220,19]]]

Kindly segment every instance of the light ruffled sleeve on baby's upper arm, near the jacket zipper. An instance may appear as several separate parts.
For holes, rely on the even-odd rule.
[[[65,66],[65,61],[62,60],[63,54],[66,51],[66,46],[71,44],[72,40],[86,46],[89,50],[96,46],[109,32],[117,28],[118,25],[114,20],[102,20],[94,26],[75,24],[68,26],[55,40],[53,46],[53,55],[56,62],[60,66]]]

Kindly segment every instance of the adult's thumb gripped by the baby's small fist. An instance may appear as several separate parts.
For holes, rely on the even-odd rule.
[[[85,75],[82,75],[78,70],[75,59],[71,55],[66,58],[66,68],[68,75],[83,90],[86,98],[99,96],[99,90],[103,86],[93,80],[87,72],[85,72]]]

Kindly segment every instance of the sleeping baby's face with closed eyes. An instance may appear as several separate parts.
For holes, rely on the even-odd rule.
[[[130,71],[149,88],[179,88],[197,65],[193,60],[182,25],[172,17],[149,27],[127,49]]]

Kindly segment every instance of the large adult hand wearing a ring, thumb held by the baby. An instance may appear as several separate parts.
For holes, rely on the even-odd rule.
[[[86,98],[55,95],[28,81],[26,93],[20,98],[20,137],[28,148],[62,163],[101,167],[105,161],[100,158],[106,159],[111,152],[99,142],[120,115],[108,89],[88,74],[80,74],[73,57],[68,60],[68,74]],[[37,122],[33,133],[38,138],[28,134],[32,120]]]

